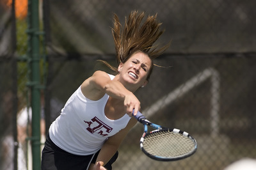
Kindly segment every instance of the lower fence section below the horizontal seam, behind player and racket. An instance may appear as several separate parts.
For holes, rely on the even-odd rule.
[[[52,120],[94,70],[109,71],[88,59],[49,62]],[[177,162],[151,160],[140,151],[143,127],[138,124],[124,140],[114,169],[223,169],[241,158],[255,158],[255,54],[164,55],[155,63],[172,67],[155,67],[148,85],[138,91],[142,112],[157,124],[192,134],[198,150]]]

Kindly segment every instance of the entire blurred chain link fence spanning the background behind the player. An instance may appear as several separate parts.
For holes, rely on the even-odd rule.
[[[31,132],[28,1],[15,3],[15,25],[12,1],[0,3],[3,170],[31,169],[32,161],[26,140]],[[120,147],[113,169],[224,169],[241,158],[256,158],[254,6],[253,0],[40,1],[49,65],[44,94],[46,132],[84,79],[95,70],[111,73],[96,60],[115,65],[113,13],[124,22],[131,10],[140,10],[147,15],[157,13],[163,22],[166,31],[159,42],[172,40],[170,49],[155,60],[167,68],[155,66],[148,85],[136,93],[142,112],[164,127],[188,131],[198,141],[198,150],[175,162],[151,160],[140,151],[143,127],[136,125]]]

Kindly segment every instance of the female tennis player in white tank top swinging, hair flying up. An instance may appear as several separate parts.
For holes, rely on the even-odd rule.
[[[140,110],[134,92],[147,85],[152,59],[168,45],[152,45],[161,36],[155,16],[131,12],[122,29],[113,19],[118,68],[104,62],[116,75],[96,71],[68,99],[60,116],[49,128],[42,151],[42,169],[112,169],[118,147],[137,120]]]

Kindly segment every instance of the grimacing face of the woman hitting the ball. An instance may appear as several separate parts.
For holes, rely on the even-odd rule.
[[[147,54],[135,52],[125,63],[120,63],[118,66],[120,82],[131,91],[136,91],[140,86],[146,86],[151,62]]]

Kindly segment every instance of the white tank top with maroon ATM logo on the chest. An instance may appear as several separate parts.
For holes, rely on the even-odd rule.
[[[115,76],[109,77],[112,80]],[[105,94],[100,100],[90,100],[84,97],[80,86],[52,122],[49,128],[52,142],[74,155],[91,155],[100,150],[104,141],[125,128],[130,120],[127,114],[109,120],[104,113],[108,98]]]

